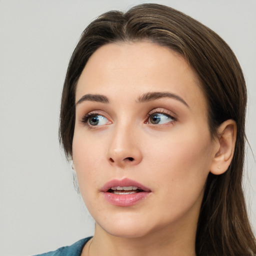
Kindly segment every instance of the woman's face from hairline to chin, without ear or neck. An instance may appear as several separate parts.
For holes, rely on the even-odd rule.
[[[122,237],[196,228],[215,145],[189,64],[150,42],[107,44],[75,96],[72,157],[96,228]]]

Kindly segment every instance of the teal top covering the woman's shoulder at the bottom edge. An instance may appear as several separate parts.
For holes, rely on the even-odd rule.
[[[65,255],[65,256],[80,256],[81,252],[82,252],[82,248],[84,246],[84,244],[91,238],[92,236],[83,238],[75,243],[73,243],[72,245],[69,246],[64,246],[64,247],[60,247],[54,251],[49,251],[46,253],[42,253],[42,254],[37,254],[34,256],[60,256],[60,255]]]

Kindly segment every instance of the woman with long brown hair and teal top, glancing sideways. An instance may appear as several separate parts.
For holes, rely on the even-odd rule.
[[[256,255],[241,188],[246,87],[228,45],[158,4],[84,30],[60,140],[95,220],[45,255]]]

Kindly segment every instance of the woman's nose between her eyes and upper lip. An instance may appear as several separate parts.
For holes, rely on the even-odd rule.
[[[130,127],[116,127],[109,138],[106,158],[111,165],[125,168],[141,162],[142,153],[137,132]]]

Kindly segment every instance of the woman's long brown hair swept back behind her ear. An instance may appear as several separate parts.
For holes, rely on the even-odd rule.
[[[173,8],[141,4],[127,12],[109,11],[83,31],[70,58],[60,110],[59,135],[72,157],[76,82],[91,54],[116,41],[150,40],[181,54],[200,80],[208,102],[212,137],[220,123],[235,120],[234,156],[225,173],[209,173],[197,224],[197,256],[256,255],[241,186],[244,162],[246,86],[240,65],[229,46],[211,29]]]

